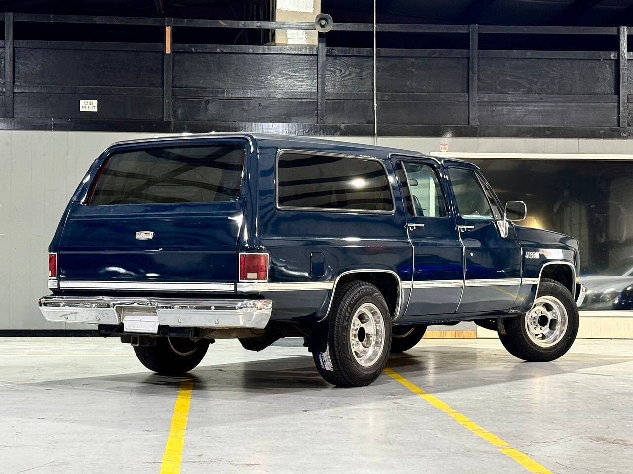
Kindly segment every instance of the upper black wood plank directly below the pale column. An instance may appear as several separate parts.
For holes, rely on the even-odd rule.
[[[174,88],[316,92],[316,54],[175,52]]]

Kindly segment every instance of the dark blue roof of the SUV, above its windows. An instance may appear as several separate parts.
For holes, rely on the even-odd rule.
[[[420,157],[420,158],[430,158],[438,163],[444,161],[442,157],[436,157],[433,155],[423,154],[421,152],[417,152],[415,150],[405,150],[391,147],[381,147],[379,145],[370,145],[369,143],[353,143],[353,142],[345,142],[344,140],[329,140],[326,138],[316,138],[316,137],[298,137],[294,135],[281,135],[277,133],[247,133],[247,132],[236,132],[236,133],[224,133],[224,132],[215,132],[212,131],[210,133],[182,133],[181,135],[168,135],[165,137],[148,137],[148,138],[139,138],[135,140],[124,140],[122,142],[116,142],[110,145],[110,147],[118,146],[118,145],[131,145],[135,143],[147,143],[147,142],[161,142],[163,140],[196,140],[203,138],[213,138],[213,137],[227,137],[227,138],[246,138],[246,140],[251,143],[251,151],[254,151],[256,146],[259,145],[268,145],[268,146],[276,146],[279,148],[294,148],[301,147],[302,145],[329,145],[332,149],[340,149],[344,150],[353,150],[356,149],[361,153],[372,153],[379,155],[379,158],[386,159],[389,154],[403,154],[412,157]],[[269,142],[269,143],[266,143]],[[110,148],[108,147],[108,148]],[[451,162],[463,162],[458,159],[449,159]]]

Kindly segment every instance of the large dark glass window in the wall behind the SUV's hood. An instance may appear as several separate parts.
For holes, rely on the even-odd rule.
[[[577,238],[582,309],[633,310],[633,161],[468,161],[502,202],[525,201],[519,224]]]

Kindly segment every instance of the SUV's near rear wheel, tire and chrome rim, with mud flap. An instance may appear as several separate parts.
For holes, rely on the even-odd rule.
[[[365,281],[344,284],[334,295],[325,352],[313,352],[323,379],[341,387],[376,380],[391,344],[389,308],[379,289]]]

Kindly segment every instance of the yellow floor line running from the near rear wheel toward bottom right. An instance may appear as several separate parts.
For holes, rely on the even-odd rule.
[[[437,399],[434,396],[432,396],[430,393],[423,391],[420,387],[413,384],[413,382],[410,382],[410,380],[405,379],[402,375],[396,374],[396,372],[394,372],[390,368],[385,368],[385,374],[389,375],[389,377],[391,377],[394,380],[398,380],[398,382],[403,384],[403,386],[407,387],[411,392],[419,395],[420,398],[422,398],[424,401],[426,401],[427,403],[437,408],[437,410],[441,410],[444,413],[446,413],[446,415],[453,418],[453,420],[460,423],[460,425],[462,425],[463,427],[472,431],[474,434],[476,434],[480,438],[492,444],[492,446],[499,449],[501,453],[514,459],[515,461],[517,461],[517,463],[522,465],[525,469],[529,470],[530,472],[533,472],[536,474],[552,474],[552,472],[548,468],[541,466],[539,463],[534,461],[534,459],[531,459],[529,456],[527,456],[527,454],[521,453],[521,451],[518,451],[517,449],[513,448],[508,443],[503,441],[503,439],[499,439],[496,435],[492,434],[491,432],[487,431],[485,428],[480,427],[479,425],[477,425],[477,423],[470,420],[468,416],[462,415],[460,412],[458,412],[457,410],[454,410],[454,408],[451,408],[440,399]]]

